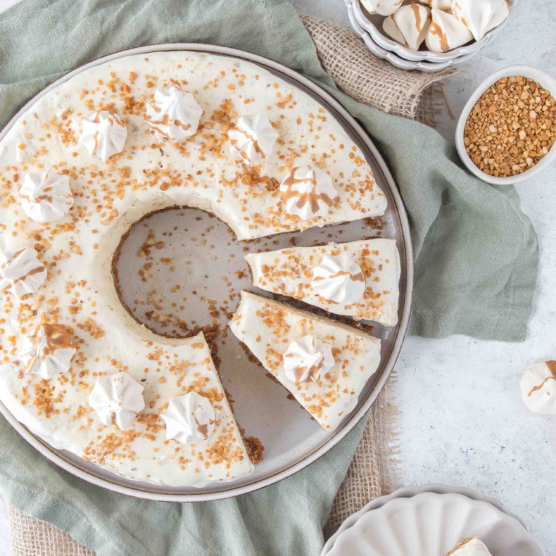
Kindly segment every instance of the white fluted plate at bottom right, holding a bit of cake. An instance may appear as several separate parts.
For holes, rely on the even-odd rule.
[[[418,493],[393,498],[336,537],[328,556],[445,556],[478,536],[493,556],[546,556],[513,515],[460,493]]]

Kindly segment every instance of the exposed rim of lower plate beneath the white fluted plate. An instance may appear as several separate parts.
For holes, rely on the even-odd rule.
[[[334,544],[338,540],[339,536],[341,536],[341,534],[347,531],[348,529],[351,529],[351,527],[353,527],[359,521],[359,519],[362,518],[368,512],[371,512],[372,510],[379,510],[381,507],[384,507],[389,502],[393,500],[398,500],[399,498],[415,498],[415,496],[426,494],[426,493],[438,494],[438,495],[457,494],[457,495],[462,495],[465,498],[469,498],[470,500],[474,500],[476,502],[485,502],[492,505],[493,507],[495,507],[496,510],[515,519],[524,528],[526,533],[533,539],[533,541],[535,541],[538,544],[539,548],[541,548],[543,554],[545,555],[545,550],[543,546],[541,545],[541,543],[537,541],[536,537],[534,537],[533,534],[529,531],[523,519],[519,517],[517,514],[514,514],[514,512],[510,512],[510,510],[508,510],[502,503],[500,503],[495,498],[491,498],[490,496],[483,495],[477,491],[474,491],[472,488],[448,486],[440,483],[432,483],[432,484],[425,484],[422,486],[405,486],[402,488],[398,488],[398,490],[394,491],[393,493],[379,496],[379,498],[374,498],[374,500],[371,500],[369,503],[367,503],[367,505],[362,507],[361,510],[355,512],[354,514],[351,514],[350,517],[348,517],[343,522],[343,524],[341,524],[338,531],[336,531],[336,533],[334,533],[334,535],[332,535],[328,539],[328,541],[324,544],[324,548],[322,549],[320,556],[327,556],[329,552],[332,550],[332,548],[334,548]]]

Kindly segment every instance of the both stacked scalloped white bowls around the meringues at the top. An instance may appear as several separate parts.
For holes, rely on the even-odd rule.
[[[348,15],[355,32],[365,41],[367,48],[379,58],[388,60],[396,68],[402,70],[421,70],[424,72],[436,72],[453,65],[466,63],[479,50],[486,46],[496,34],[503,29],[507,19],[498,27],[485,34],[480,41],[473,41],[460,48],[449,52],[436,53],[427,50],[424,45],[419,51],[408,49],[403,44],[394,41],[382,30],[384,15],[369,14],[362,6],[360,0],[345,0],[348,6]],[[518,0],[507,0],[513,11]],[[413,1],[406,2],[413,4]],[[511,13],[510,13],[511,15]]]

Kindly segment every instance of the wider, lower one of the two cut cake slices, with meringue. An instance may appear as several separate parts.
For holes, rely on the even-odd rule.
[[[316,419],[334,430],[380,362],[380,340],[248,291],[232,332]]]

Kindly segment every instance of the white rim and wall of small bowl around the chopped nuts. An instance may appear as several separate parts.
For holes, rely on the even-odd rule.
[[[495,82],[502,79],[503,77],[512,77],[512,75],[521,75],[522,77],[529,77],[530,79],[538,82],[541,84],[541,87],[548,91],[555,99],[556,99],[556,80],[554,77],[550,77],[545,72],[538,70],[536,68],[532,68],[530,65],[508,65],[507,68],[503,68],[498,70],[497,72],[493,73],[490,77],[487,77],[484,82],[482,82],[479,87],[477,87],[476,91],[472,94],[469,101],[463,108],[462,113],[460,115],[460,119],[457,120],[457,127],[455,129],[455,146],[457,149],[457,153],[460,155],[462,162],[467,166],[467,169],[472,172],[476,177],[482,179],[484,182],[494,185],[509,185],[514,184],[516,182],[522,182],[524,179],[529,179],[530,177],[538,174],[546,168],[552,160],[556,158],[556,146],[552,145],[548,154],[543,156],[541,160],[536,163],[532,168],[529,170],[525,170],[521,174],[517,174],[515,176],[508,176],[508,177],[495,177],[486,174],[482,170],[473,163],[473,160],[469,158],[467,151],[465,150],[465,143],[463,141],[463,132],[465,128],[465,123],[467,122],[467,118],[471,113],[472,108],[475,106],[476,101],[479,100],[481,95],[491,87]]]

